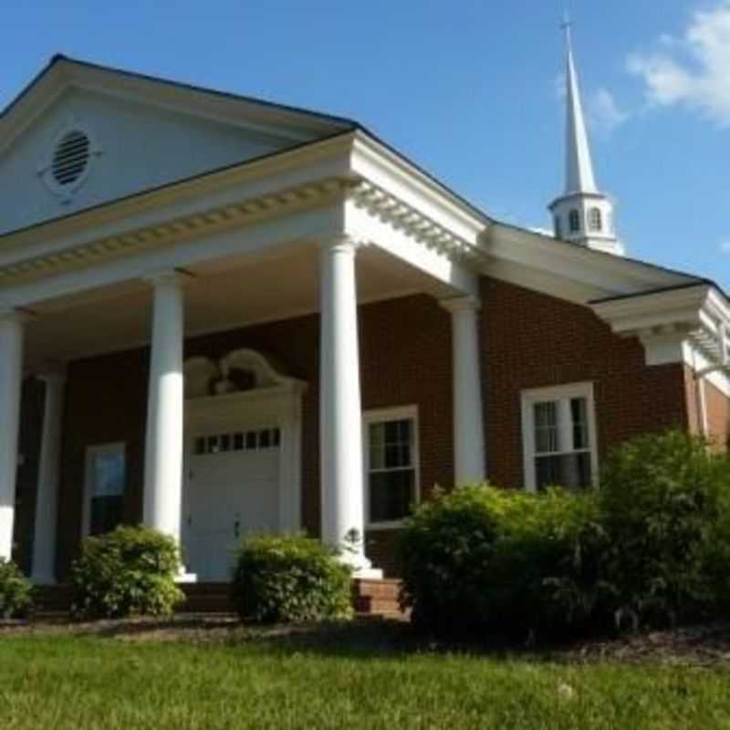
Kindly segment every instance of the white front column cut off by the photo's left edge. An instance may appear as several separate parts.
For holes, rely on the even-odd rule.
[[[13,552],[16,516],[20,391],[23,383],[23,316],[0,310],[0,558]]]

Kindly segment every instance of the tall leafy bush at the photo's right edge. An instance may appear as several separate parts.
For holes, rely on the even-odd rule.
[[[601,521],[610,537],[602,574],[618,624],[662,625],[714,610],[727,586],[730,469],[702,439],[641,436],[601,472]]]

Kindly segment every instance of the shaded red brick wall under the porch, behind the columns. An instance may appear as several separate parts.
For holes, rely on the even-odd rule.
[[[221,358],[238,348],[259,350],[307,381],[303,402],[302,517],[319,532],[317,315],[241,328],[190,339],[185,357]],[[451,321],[433,297],[403,297],[360,308],[362,403],[366,410],[415,403],[419,409],[422,492],[453,480]],[[125,518],[141,518],[144,428],[147,408],[147,349],[72,362],[59,502],[58,568],[63,575],[78,551],[87,446],[127,444]],[[366,539],[378,564],[392,566],[391,531]],[[27,536],[26,536],[27,538]]]

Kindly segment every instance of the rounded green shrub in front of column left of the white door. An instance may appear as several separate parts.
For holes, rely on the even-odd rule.
[[[146,527],[117,527],[88,537],[71,570],[73,612],[81,619],[168,616],[183,600],[172,537]]]

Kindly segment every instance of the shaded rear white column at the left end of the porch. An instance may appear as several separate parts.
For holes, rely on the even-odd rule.
[[[38,464],[36,527],[33,538],[33,580],[49,584],[56,579],[58,473],[61,462],[61,427],[65,374],[49,371],[38,376],[46,384],[43,436]]]

